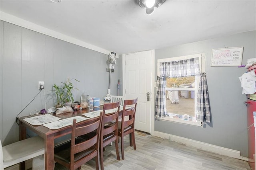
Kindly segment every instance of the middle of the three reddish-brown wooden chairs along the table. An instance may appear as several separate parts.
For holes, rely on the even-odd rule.
[[[117,109],[113,113],[105,114],[109,109]],[[120,160],[118,150],[118,115],[120,109],[120,101],[115,103],[105,103],[103,106],[102,124],[101,124],[101,135],[100,135],[100,168],[104,170],[103,166],[103,148],[111,142],[115,141],[116,146],[116,157]],[[112,122],[111,124],[106,124]]]

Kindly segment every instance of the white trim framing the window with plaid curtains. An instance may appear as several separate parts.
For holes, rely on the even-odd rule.
[[[158,59],[157,60],[157,76],[160,76],[160,64],[162,62],[171,62],[171,61],[180,61],[180,60],[186,60],[186,59],[192,59],[192,58],[199,58],[199,67],[200,67],[200,73],[205,72],[205,53],[200,53],[200,54],[194,54],[194,55],[186,55],[186,56],[180,56],[180,57],[171,57],[171,58],[166,58],[166,59]],[[196,86],[198,86],[196,84]],[[195,92],[195,96],[197,93]],[[196,108],[196,102],[195,102],[195,108]],[[161,118],[160,118],[161,119]],[[197,122],[192,122],[192,121],[185,121],[182,119],[176,119],[176,118],[168,118],[169,120],[166,119],[161,119],[162,121],[172,121],[176,123],[183,123],[187,125],[195,125],[195,126],[202,126],[201,121]]]

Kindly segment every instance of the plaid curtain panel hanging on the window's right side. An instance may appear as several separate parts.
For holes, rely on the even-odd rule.
[[[211,122],[210,101],[205,73],[202,73],[197,94],[196,119],[202,122]]]

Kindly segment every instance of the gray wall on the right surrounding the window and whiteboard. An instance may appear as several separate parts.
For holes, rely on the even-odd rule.
[[[241,46],[244,47],[242,64],[246,64],[247,59],[256,57],[256,31],[156,50],[156,60],[206,53],[212,123],[202,128],[160,120],[155,121],[155,131],[239,150],[241,156],[248,157],[247,113],[243,104],[246,95],[242,94],[238,79],[246,68],[210,66],[212,49]]]

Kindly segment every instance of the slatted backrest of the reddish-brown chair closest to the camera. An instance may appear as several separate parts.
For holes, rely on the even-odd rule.
[[[97,155],[97,152],[99,150],[99,137],[100,137],[100,127],[101,127],[101,121],[102,121],[102,112],[100,112],[100,117],[97,119],[97,121],[88,124],[77,124],[76,119],[73,120],[72,125],[72,135],[71,135],[71,149],[70,149],[70,166],[74,167],[74,169],[80,167],[82,164],[90,160],[91,158],[95,157]],[[96,135],[92,136],[90,139],[84,141],[82,140],[80,143],[75,143],[76,137],[86,135],[88,133],[92,133],[96,130]],[[82,152],[84,150],[87,150],[91,147],[95,147],[96,150],[94,150],[90,155],[93,156],[85,156],[80,158],[80,160],[74,161],[75,154]]]

